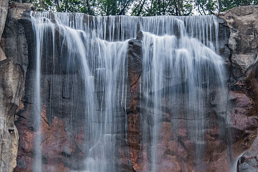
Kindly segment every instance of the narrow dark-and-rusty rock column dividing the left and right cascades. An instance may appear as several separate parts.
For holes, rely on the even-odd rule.
[[[142,36],[139,32],[136,39],[129,41],[128,45],[128,86],[126,113],[128,120],[127,146],[132,169],[142,170],[141,152],[141,117],[137,110],[140,101],[140,76],[142,73]]]

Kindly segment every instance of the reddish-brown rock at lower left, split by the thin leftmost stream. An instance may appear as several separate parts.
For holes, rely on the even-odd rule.
[[[27,110],[30,110],[29,107],[27,107]],[[33,132],[31,128],[26,127],[27,115],[28,114],[25,111],[23,113],[23,118],[17,121],[19,127],[24,127],[22,128],[23,130],[20,128],[24,133],[21,133],[22,137],[20,138],[20,147],[18,151],[18,159],[23,162],[20,163],[24,164],[24,167],[17,167],[15,172],[31,172],[32,169],[33,142],[38,132]],[[42,137],[41,149],[43,158],[46,157],[48,162],[48,165],[43,165],[43,170],[49,171],[48,169],[52,169],[55,172],[68,172],[69,168],[64,167],[61,157],[62,153],[65,152],[65,149],[70,149],[71,154],[74,153],[74,147],[71,144],[72,141],[67,138],[64,130],[64,122],[62,120],[55,117],[52,124],[49,125],[46,116],[46,106],[43,106],[40,123],[40,133]]]

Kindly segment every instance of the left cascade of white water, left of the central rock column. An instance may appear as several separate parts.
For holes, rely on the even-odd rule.
[[[32,14],[31,19],[36,34],[36,57],[38,57],[36,59],[35,95],[40,100],[39,80],[42,78],[40,62],[47,56],[53,56],[52,66],[46,69],[53,75],[55,75],[57,65],[60,65],[58,63],[61,63],[64,76],[74,74],[76,70],[79,70],[85,85],[86,143],[84,149],[86,160],[84,168],[90,172],[114,171],[115,139],[119,135],[117,131],[121,130],[117,120],[121,118],[120,102],[125,98],[128,41],[108,42],[100,39],[97,29],[91,32],[84,31],[85,28],[88,31],[89,29],[87,23],[83,21],[82,14],[43,12]],[[100,30],[102,32],[102,29]],[[110,39],[115,39],[115,36]],[[53,41],[51,46],[48,45],[48,39]],[[51,55],[41,54],[42,50],[51,52]],[[37,103],[36,107],[40,107],[39,102],[35,103]],[[51,111],[51,104],[49,108]],[[73,110],[70,113],[72,116]],[[39,126],[40,117],[35,116],[35,119],[36,125]],[[41,139],[35,140],[36,149],[41,149],[40,142]],[[35,167],[40,167],[39,157],[40,154],[36,152]],[[38,168],[34,171],[41,170]]]

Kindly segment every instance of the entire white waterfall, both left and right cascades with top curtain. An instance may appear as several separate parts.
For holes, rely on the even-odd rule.
[[[196,169],[201,168],[208,132],[206,110],[209,92],[221,88],[224,96],[224,61],[218,52],[218,23],[214,16],[196,17],[92,17],[81,13],[31,12],[35,34],[35,131],[40,130],[43,105],[53,116],[70,115],[69,128],[76,127],[77,99],[84,107],[85,127],[83,165],[80,170],[113,172],[119,170],[117,148],[125,142],[127,49],[129,39],[143,31],[143,71],[141,74],[142,141],[150,140],[150,171],[159,169],[159,132],[164,114],[172,118],[177,134],[178,120],[188,120],[188,138],[196,149]],[[43,53],[44,52],[44,53]],[[46,61],[47,59],[51,61]],[[62,77],[58,78],[57,73]],[[78,75],[77,75],[78,74]],[[42,83],[71,98],[54,105],[54,95],[43,100]],[[83,85],[69,86],[79,82]],[[51,83],[58,83],[52,85]],[[224,100],[224,98],[220,98]],[[221,102],[223,104],[225,102]],[[169,108],[164,108],[165,106]],[[79,106],[80,106],[79,105]],[[143,111],[144,110],[144,111]],[[125,122],[123,122],[125,121]],[[144,122],[147,121],[147,122]],[[40,132],[39,132],[40,133]],[[148,133],[150,133],[148,135]],[[150,137],[150,138],[149,138]],[[178,139],[178,138],[174,138]],[[41,172],[41,135],[34,140],[33,171]]]

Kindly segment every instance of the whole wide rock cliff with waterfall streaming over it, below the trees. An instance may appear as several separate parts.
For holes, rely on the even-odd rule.
[[[26,74],[13,75],[25,77],[15,172],[257,170],[257,6],[196,17],[31,8],[8,9],[0,41]]]

